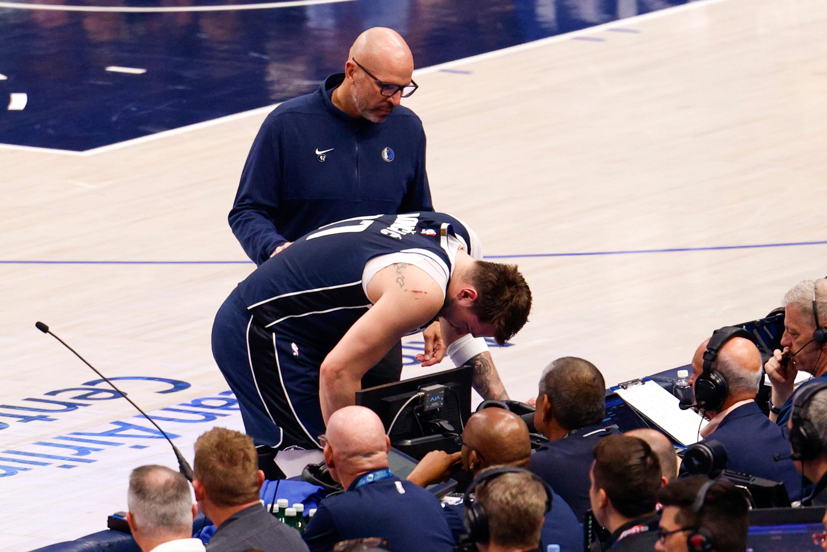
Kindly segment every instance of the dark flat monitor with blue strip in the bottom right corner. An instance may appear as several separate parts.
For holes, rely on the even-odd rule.
[[[749,512],[748,552],[821,550],[813,535],[825,532],[825,506],[766,508]]]

